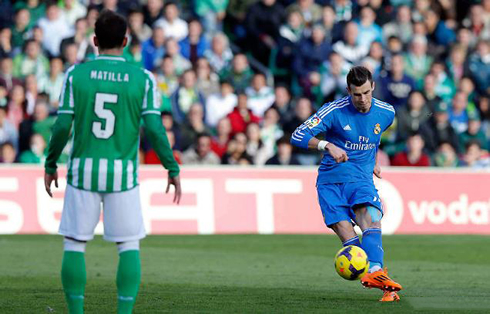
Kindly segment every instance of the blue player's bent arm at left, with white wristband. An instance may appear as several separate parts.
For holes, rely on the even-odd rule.
[[[320,109],[321,110],[321,109]],[[315,136],[319,133],[327,132],[330,126],[332,115],[325,116],[323,119],[317,113],[296,128],[291,136],[291,144],[303,149],[327,151],[336,162],[345,162],[349,159],[347,153],[333,143],[319,140]]]

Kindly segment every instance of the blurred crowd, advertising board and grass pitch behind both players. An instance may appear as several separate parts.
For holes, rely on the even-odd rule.
[[[395,279],[409,287],[398,312],[488,313],[490,0],[1,1],[0,234],[57,232],[65,182],[47,197],[41,165],[64,71],[97,55],[93,28],[104,8],[128,18],[124,57],[155,74],[183,169],[177,207],[163,195],[163,172],[142,134],[151,234],[330,234],[314,188],[321,155],[294,149],[289,137],[323,103],[346,95],[347,71],[364,65],[375,97],[397,111],[376,184],[384,232],[405,234],[385,240]],[[332,235],[142,243],[140,312],[392,311],[336,277]],[[89,246],[89,312],[113,311],[108,246]],[[0,276],[0,312],[63,312],[61,241],[1,236],[0,248],[9,270]]]

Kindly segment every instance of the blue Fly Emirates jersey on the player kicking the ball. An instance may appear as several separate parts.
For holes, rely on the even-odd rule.
[[[361,113],[350,97],[323,105],[291,136],[291,144],[308,149],[308,141],[325,139],[347,153],[349,160],[337,163],[325,153],[318,169],[318,184],[373,180],[376,152],[383,133],[395,118],[393,106],[373,98],[369,112]]]

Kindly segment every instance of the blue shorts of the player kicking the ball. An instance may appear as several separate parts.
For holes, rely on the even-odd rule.
[[[319,184],[318,202],[327,227],[339,221],[356,221],[354,208],[374,206],[383,214],[378,190],[373,182]]]

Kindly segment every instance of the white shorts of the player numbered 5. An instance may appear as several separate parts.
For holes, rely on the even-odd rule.
[[[104,240],[127,242],[146,236],[138,186],[124,192],[99,193],[67,185],[59,234],[80,241],[92,240],[101,204]]]

